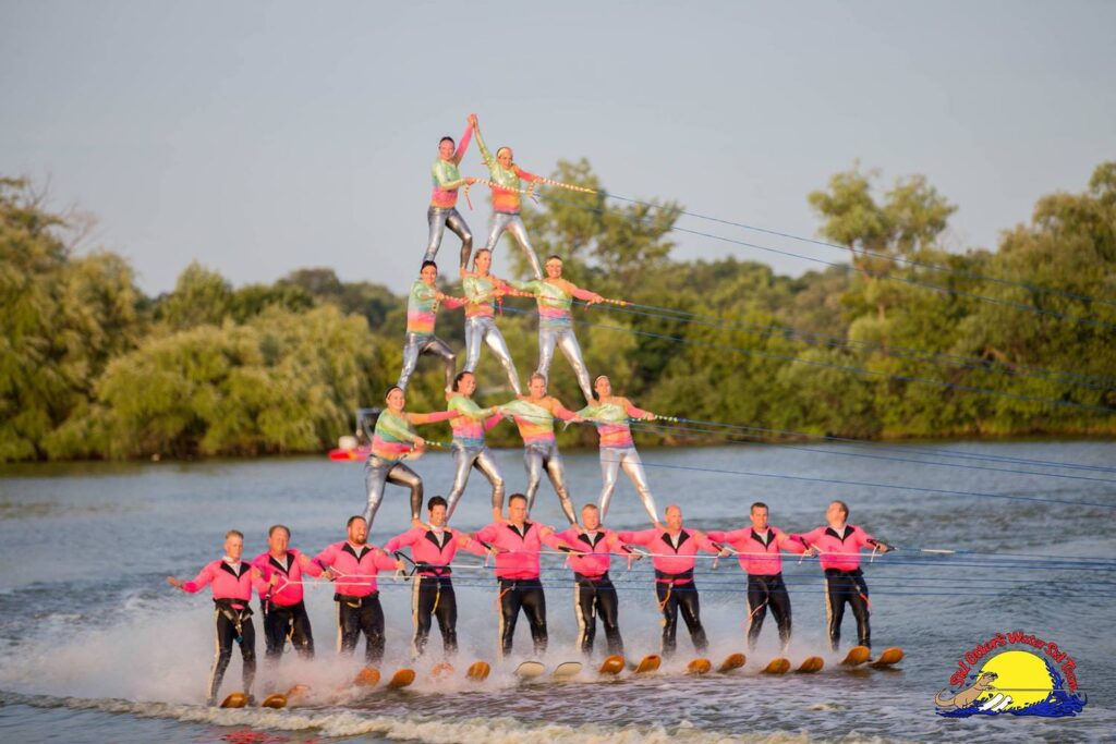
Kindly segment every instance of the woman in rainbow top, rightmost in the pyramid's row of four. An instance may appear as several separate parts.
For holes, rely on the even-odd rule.
[[[577,412],[578,416],[595,424],[600,436],[600,519],[608,513],[608,503],[616,491],[616,477],[620,468],[632,480],[643,502],[643,508],[654,524],[660,524],[658,512],[655,509],[655,497],[651,495],[647,475],[643,472],[639,453],[632,439],[628,419],[654,421],[655,414],[632,405],[627,398],[613,395],[613,385],[605,375],[593,383],[593,397],[596,403]]]

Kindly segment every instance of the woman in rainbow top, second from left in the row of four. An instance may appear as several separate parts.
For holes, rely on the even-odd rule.
[[[484,432],[500,423],[503,416],[493,413],[492,408],[481,408],[473,400],[477,390],[477,378],[471,371],[460,373],[453,379],[453,394],[450,397],[450,410],[460,414],[453,419],[453,487],[446,497],[446,521],[453,516],[453,509],[469,483],[469,471],[479,470],[492,484],[492,521],[499,522],[503,514],[503,476],[492,458],[492,453],[484,446]]]

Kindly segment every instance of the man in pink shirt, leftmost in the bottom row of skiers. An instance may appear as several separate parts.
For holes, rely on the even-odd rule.
[[[217,656],[205,687],[205,700],[217,705],[217,692],[221,688],[224,670],[232,658],[232,642],[240,644],[240,657],[244,663],[244,694],[251,699],[252,682],[256,678],[256,628],[252,626],[252,587],[263,593],[268,590],[262,574],[249,563],[240,560],[244,552],[244,534],[229,530],[224,534],[224,555],[206,563],[192,581],[183,581],[174,576],[166,582],[176,589],[196,593],[210,584],[213,590],[213,620],[217,635]]]

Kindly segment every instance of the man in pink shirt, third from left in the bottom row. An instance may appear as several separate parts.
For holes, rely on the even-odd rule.
[[[335,542],[314,559],[323,576],[333,580],[337,592],[337,649],[343,654],[356,650],[363,632],[364,656],[368,664],[384,657],[384,608],[379,605],[376,574],[402,570],[403,561],[392,560],[379,548],[368,543],[368,523],[363,516],[350,516],[345,523],[348,539]]]

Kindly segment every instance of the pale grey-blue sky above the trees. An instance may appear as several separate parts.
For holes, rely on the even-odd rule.
[[[960,207],[946,245],[995,248],[1116,157],[1114,28],[1087,1],[0,0],[0,175],[96,215],[83,245],[151,294],[194,260],[405,289],[437,141],[470,112],[528,171],[586,157],[614,194],[806,238],[835,173],[924,174]],[[475,145],[462,172],[484,175]],[[461,201],[483,234],[487,199]],[[807,258],[677,234],[677,259],[843,255],[680,224]]]

